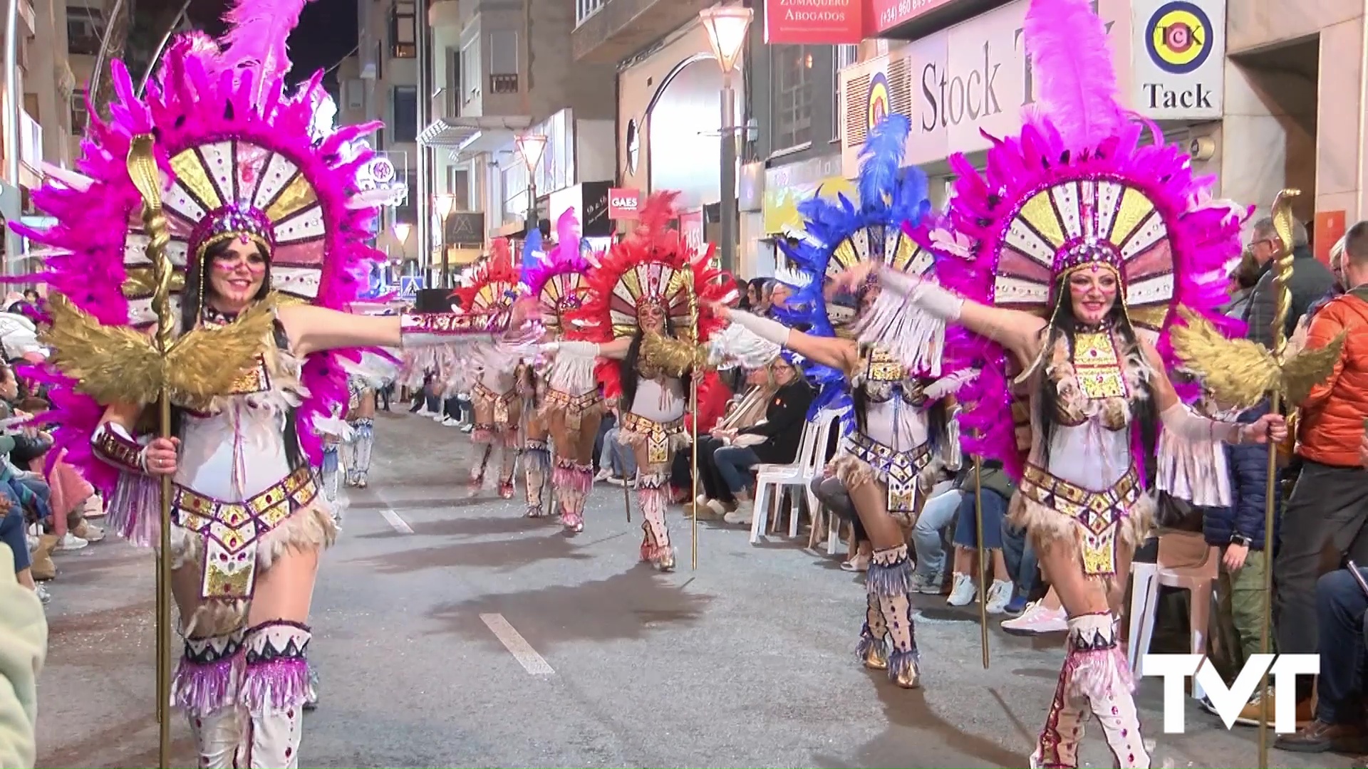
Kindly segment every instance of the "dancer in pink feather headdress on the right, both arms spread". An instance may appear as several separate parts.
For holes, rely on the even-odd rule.
[[[1070,617],[1030,764],[1078,766],[1092,713],[1118,765],[1144,769],[1150,759],[1116,610],[1149,528],[1146,491],[1228,504],[1213,443],[1280,439],[1286,426],[1276,415],[1252,424],[1194,415],[1167,375],[1172,361],[1157,352],[1168,349],[1178,307],[1219,322],[1220,268],[1239,250],[1239,212],[1201,203],[1211,181],[1193,178],[1189,157],[1152,125],[1127,119],[1088,0],[1033,0],[1025,37],[1038,77],[1021,137],[993,141],[986,174],[951,160],[958,233],[936,239],[947,253],[937,275],[955,290],[878,270],[884,291],[865,338],[914,356],[906,330],[944,322],[995,345],[962,393],[964,445],[1019,479],[1011,514]],[[1146,126],[1156,135],[1141,145]],[[1022,420],[1014,383],[1026,384]]]

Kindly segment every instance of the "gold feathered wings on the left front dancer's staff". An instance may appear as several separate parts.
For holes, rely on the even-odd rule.
[[[77,389],[101,404],[156,402],[163,383],[178,406],[202,409],[233,391],[256,365],[275,322],[274,298],[259,302],[220,328],[194,328],[176,339],[166,359],[153,341],[127,326],[104,326],[62,294],[48,297],[52,326],[42,334],[49,363],[77,379]]]

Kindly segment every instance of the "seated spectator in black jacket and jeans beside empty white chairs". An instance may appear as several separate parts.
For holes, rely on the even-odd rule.
[[[778,389],[765,406],[765,419],[754,427],[720,431],[718,439],[726,445],[713,453],[717,473],[736,499],[736,509],[724,516],[729,524],[751,523],[750,469],[758,464],[792,464],[803,443],[813,387],[792,353],[782,353],[769,368]]]

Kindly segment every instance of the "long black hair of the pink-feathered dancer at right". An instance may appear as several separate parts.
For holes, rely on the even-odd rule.
[[[1122,356],[1122,365],[1126,365],[1126,359],[1133,354],[1144,356],[1140,349],[1140,338],[1135,337],[1135,328],[1130,324],[1130,317],[1126,316],[1126,307],[1122,300],[1123,289],[1118,282],[1116,302],[1107,316],[1103,319],[1103,327],[1109,327],[1115,331],[1116,337],[1120,339],[1124,349],[1116,350]],[[1068,349],[1074,349],[1074,338],[1079,331],[1086,330],[1083,323],[1078,320],[1074,315],[1074,302],[1068,291],[1068,276],[1062,275],[1055,285],[1055,302],[1051,307],[1051,317],[1055,322],[1047,326],[1041,335],[1044,337],[1044,352],[1042,367],[1049,365],[1051,356],[1053,354],[1055,345],[1059,339],[1064,339],[1068,343]],[[1156,371],[1156,376],[1163,376],[1163,371]],[[1124,368],[1123,368],[1124,376]],[[1036,419],[1040,423],[1040,439],[1041,439],[1041,464],[1049,462],[1049,441],[1055,435],[1055,427],[1059,421],[1059,387],[1055,380],[1049,376],[1044,376],[1041,382],[1042,387],[1040,390],[1040,401],[1036,409]],[[1159,406],[1155,402],[1155,386],[1149,379],[1142,379],[1140,383],[1142,393],[1135,393],[1130,401],[1130,419],[1131,426],[1140,428],[1140,442],[1146,457],[1155,456],[1156,442],[1159,439]]]

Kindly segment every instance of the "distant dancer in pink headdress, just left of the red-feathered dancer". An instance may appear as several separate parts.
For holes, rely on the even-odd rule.
[[[584,502],[594,486],[594,439],[603,419],[603,397],[594,378],[592,356],[554,354],[554,342],[584,337],[569,319],[584,301],[588,291],[587,274],[592,268],[580,255],[579,222],[573,211],[561,215],[555,222],[555,248],[536,259],[523,276],[540,308],[550,353],[544,376],[538,378],[543,384],[540,406],[528,417],[524,454],[528,514],[534,514],[534,483],[540,494],[544,465],[538,462],[540,457],[549,457],[544,452],[546,435],[550,434],[555,446],[551,486],[561,504],[561,524],[580,532],[584,531]],[[539,514],[540,497],[536,498],[535,509]]]

